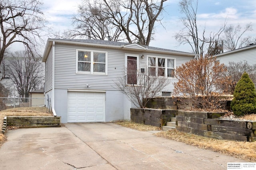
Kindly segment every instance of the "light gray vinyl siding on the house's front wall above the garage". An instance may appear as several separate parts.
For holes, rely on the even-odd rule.
[[[104,51],[107,52],[107,75],[97,74],[76,74],[76,49]],[[176,67],[186,63],[193,57],[174,56],[158,53],[142,53],[138,51],[125,51],[124,49],[96,48],[82,45],[55,44],[55,88],[59,89],[86,89],[86,90],[116,90],[114,80],[119,76],[124,76],[125,55],[138,55],[139,69],[147,69],[147,55],[157,55],[159,57],[171,57],[176,59]],[[141,55],[145,58],[142,59]],[[172,91],[173,82],[166,87],[165,91]],[[90,88],[86,88],[86,84]]]

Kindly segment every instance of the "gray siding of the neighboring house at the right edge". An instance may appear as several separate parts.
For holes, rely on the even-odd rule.
[[[238,63],[240,61],[247,61],[248,64],[253,65],[256,64],[256,48],[216,57],[216,59],[225,65],[229,65],[229,62]]]

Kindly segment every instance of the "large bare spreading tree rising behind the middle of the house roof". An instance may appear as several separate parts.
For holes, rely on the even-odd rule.
[[[71,37],[124,40],[149,45],[166,0],[83,0]],[[67,36],[66,36],[67,37]]]

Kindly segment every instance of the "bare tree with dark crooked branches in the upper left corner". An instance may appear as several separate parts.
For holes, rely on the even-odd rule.
[[[41,7],[40,0],[1,0],[0,65],[6,49],[13,43],[22,43],[30,52],[37,47],[45,23]]]

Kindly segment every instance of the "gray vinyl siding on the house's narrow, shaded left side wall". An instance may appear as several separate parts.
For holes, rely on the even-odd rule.
[[[52,90],[52,49],[45,63],[45,92]]]

